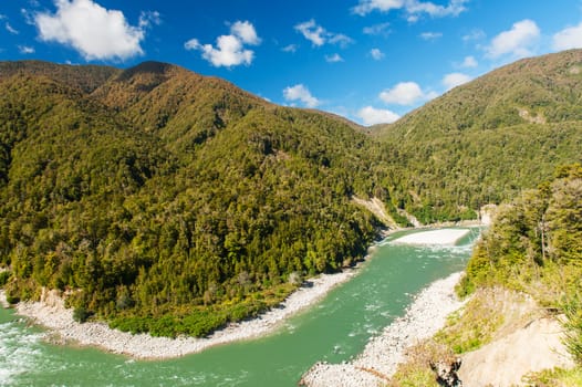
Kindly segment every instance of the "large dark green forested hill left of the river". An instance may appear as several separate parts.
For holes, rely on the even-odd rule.
[[[365,253],[378,223],[352,197],[386,196],[372,145],[169,64],[1,63],[0,285],[204,335]]]

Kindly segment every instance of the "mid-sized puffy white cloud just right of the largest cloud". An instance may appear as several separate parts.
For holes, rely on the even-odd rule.
[[[216,48],[212,44],[201,44],[197,39],[190,39],[184,43],[186,50],[199,50],[202,57],[215,67],[250,65],[254,59],[254,52],[245,45],[258,45],[261,40],[257,35],[254,27],[248,21],[237,21],[230,25],[229,35],[220,35],[216,39]]]

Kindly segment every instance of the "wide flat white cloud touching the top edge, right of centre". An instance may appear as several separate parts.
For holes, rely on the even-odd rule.
[[[435,4],[430,1],[419,0],[360,0],[352,12],[366,15],[373,11],[389,12],[392,10],[404,10],[408,21],[416,21],[423,14],[433,18],[456,17],[467,10],[465,3],[468,0],[450,0],[447,6]]]

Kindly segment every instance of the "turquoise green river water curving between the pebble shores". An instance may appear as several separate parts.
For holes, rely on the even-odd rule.
[[[42,331],[0,307],[0,386],[297,386],[318,360],[364,348],[430,282],[460,271],[479,230],[455,247],[378,243],[350,282],[277,332],[177,359],[143,362],[45,343]]]

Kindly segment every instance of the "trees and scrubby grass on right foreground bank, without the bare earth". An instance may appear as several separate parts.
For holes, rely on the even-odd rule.
[[[578,386],[581,262],[582,166],[574,164],[558,168],[553,180],[501,207],[457,289],[461,296],[471,294],[472,299],[434,338],[410,351],[410,360],[401,367],[393,385],[412,386],[407,380],[433,375],[427,386],[437,386],[432,365],[450,364],[451,356],[480,348],[536,318],[563,315],[565,344],[578,366],[527,378],[534,385]]]

